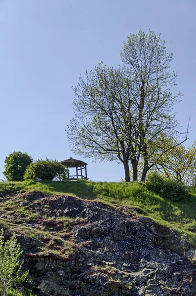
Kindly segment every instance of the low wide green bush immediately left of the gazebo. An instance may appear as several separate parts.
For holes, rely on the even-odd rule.
[[[57,160],[46,158],[46,160],[38,159],[35,163],[31,163],[24,176],[25,180],[53,180],[58,176],[66,175],[65,167]]]

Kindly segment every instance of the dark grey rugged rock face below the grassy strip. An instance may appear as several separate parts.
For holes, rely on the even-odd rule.
[[[24,194],[23,206],[35,208],[35,196],[40,213],[47,209],[49,217],[83,219],[69,226],[67,237],[61,235],[74,246],[69,255],[67,249],[61,257],[41,255],[34,240],[26,248],[18,238],[38,295],[196,296],[196,267],[185,254],[189,245],[171,229],[129,207],[117,210],[71,196]],[[55,220],[52,229],[49,222],[37,224],[52,235],[62,231]]]

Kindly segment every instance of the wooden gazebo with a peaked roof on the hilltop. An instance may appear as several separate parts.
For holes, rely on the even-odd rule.
[[[67,180],[78,180],[78,179],[88,180],[87,170],[86,170],[87,163],[83,162],[82,160],[74,159],[72,157],[70,157],[69,159],[60,161],[60,163],[68,169],[76,168],[76,175],[70,175],[68,170],[68,177],[66,178]],[[83,173],[83,170],[84,170],[84,173]]]

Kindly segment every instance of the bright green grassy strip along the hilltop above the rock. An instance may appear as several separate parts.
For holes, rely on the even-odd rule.
[[[150,192],[137,183],[106,183],[90,181],[67,182],[1,182],[0,196],[27,190],[40,190],[48,194],[69,194],[122,208],[140,208],[143,216],[187,234],[196,245],[196,195],[190,201],[171,202]],[[195,230],[193,229],[195,227]],[[193,230],[193,231],[191,231]]]

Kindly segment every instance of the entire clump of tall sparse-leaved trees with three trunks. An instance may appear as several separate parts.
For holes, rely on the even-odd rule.
[[[130,35],[121,59],[118,68],[101,63],[86,72],[85,79],[79,78],[73,88],[75,118],[67,134],[71,149],[81,156],[120,160],[125,181],[130,181],[130,161],[137,181],[140,156],[147,159],[156,138],[176,131],[178,122],[171,111],[181,94],[170,91],[176,81],[169,70],[173,55],[166,52],[160,35],[152,31]]]

